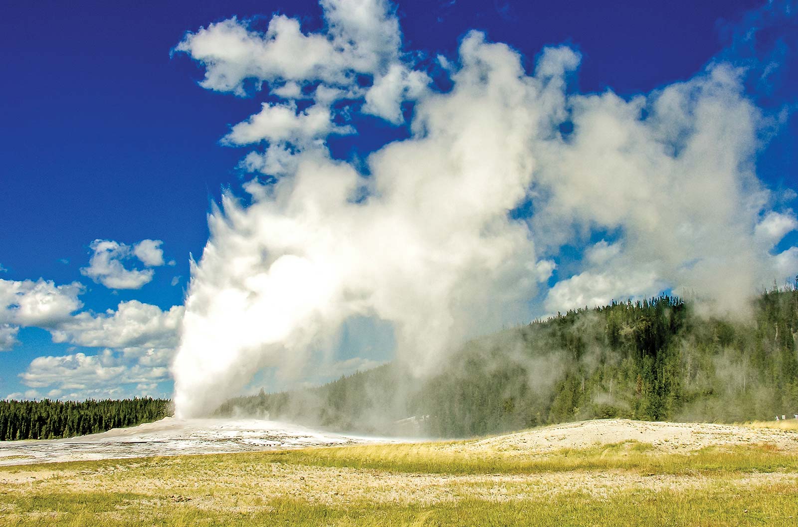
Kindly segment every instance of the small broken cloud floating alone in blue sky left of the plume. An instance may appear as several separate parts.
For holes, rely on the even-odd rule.
[[[164,265],[164,251],[160,240],[142,240],[134,246],[112,240],[94,240],[89,244],[93,251],[89,266],[81,268],[81,274],[109,289],[141,289],[152,281],[153,266]],[[124,262],[137,258],[147,269],[128,269]]]

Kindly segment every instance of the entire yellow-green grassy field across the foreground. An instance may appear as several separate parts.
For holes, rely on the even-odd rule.
[[[0,525],[798,525],[798,456],[464,442],[0,468]]]

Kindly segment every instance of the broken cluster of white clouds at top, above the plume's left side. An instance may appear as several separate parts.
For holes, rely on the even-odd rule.
[[[176,45],[176,52],[204,66],[204,88],[243,96],[266,85],[281,99],[264,103],[222,140],[264,144],[243,159],[247,171],[293,172],[298,152],[323,150],[330,134],[353,133],[336,123],[359,108],[399,124],[401,104],[428,91],[427,74],[413,69],[401,53],[399,22],[389,2],[323,0],[321,6],[325,26],[317,33],[302,33],[299,21],[284,15],[271,18],[265,32],[231,18],[187,33]],[[364,81],[369,78],[370,85]],[[307,106],[307,100],[313,104]]]

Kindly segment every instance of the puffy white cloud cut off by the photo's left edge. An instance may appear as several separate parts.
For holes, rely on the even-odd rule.
[[[53,328],[82,307],[77,296],[83,285],[53,281],[0,280],[0,324]]]

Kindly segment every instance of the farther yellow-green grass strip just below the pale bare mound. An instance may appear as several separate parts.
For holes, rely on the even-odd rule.
[[[113,459],[10,466],[2,470],[62,469],[112,470],[136,466],[139,470],[200,470],[208,466],[243,463],[280,463],[292,466],[341,467],[423,474],[540,474],[572,470],[629,470],[638,474],[700,474],[736,472],[798,472],[798,455],[768,444],[709,446],[685,454],[662,454],[648,443],[619,442],[586,449],[563,449],[544,454],[474,453],[455,450],[465,442],[355,445],[277,450],[259,453],[200,454],[173,458]],[[454,449],[446,448],[454,446]]]

